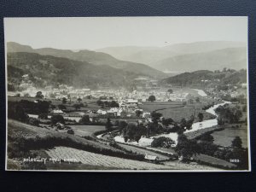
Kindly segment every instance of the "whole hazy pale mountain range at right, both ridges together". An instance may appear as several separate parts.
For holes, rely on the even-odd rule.
[[[247,67],[247,47],[240,42],[208,41],[165,47],[108,47],[96,51],[169,72],[220,70],[224,67],[239,70]]]

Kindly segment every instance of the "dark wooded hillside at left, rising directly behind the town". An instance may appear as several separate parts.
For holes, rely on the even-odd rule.
[[[108,65],[92,65],[85,61],[73,61],[67,58],[36,53],[8,53],[8,83],[19,85],[28,74],[26,82],[36,87],[67,84],[74,87],[101,86],[125,87],[140,74],[131,73]]]

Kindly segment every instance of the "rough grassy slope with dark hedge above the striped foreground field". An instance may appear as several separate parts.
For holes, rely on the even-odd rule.
[[[127,154],[94,140],[87,140],[59,131],[51,131],[41,127],[26,125],[15,120],[8,121],[8,156],[9,158],[29,155],[31,150],[65,146],[78,148],[97,154],[123,157],[132,160],[143,160],[143,155]]]

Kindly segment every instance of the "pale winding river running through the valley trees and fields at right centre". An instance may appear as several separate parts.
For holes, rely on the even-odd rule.
[[[222,102],[222,103],[218,103],[218,104],[212,106],[212,108],[208,108],[206,110],[206,112],[207,113],[212,113],[213,115],[216,116],[216,118],[215,119],[203,120],[202,122],[196,122],[192,125],[191,130],[187,130],[184,133],[197,131],[197,130],[201,130],[201,129],[206,129],[206,128],[210,128],[212,126],[218,125],[218,120],[217,120],[218,115],[215,113],[214,110],[216,108],[218,108],[219,106],[223,106],[224,104],[228,104],[228,103],[230,103],[230,102]],[[154,138],[157,138],[157,137],[169,137],[175,143],[177,143],[177,133],[169,133],[169,134],[160,134],[158,136],[154,136],[154,137],[150,137],[150,138],[142,137],[139,140],[139,143],[131,142],[131,144],[135,144],[135,145],[139,145],[139,146],[149,146],[154,141]],[[124,138],[120,137],[120,136],[114,137],[114,140],[117,141],[117,142],[120,142],[120,143],[125,143]],[[173,146],[175,146],[175,145],[173,145]]]

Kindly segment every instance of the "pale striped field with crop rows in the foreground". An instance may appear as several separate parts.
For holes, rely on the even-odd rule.
[[[47,150],[46,153],[55,159],[76,159],[85,165],[115,167],[128,170],[175,170],[174,166],[155,165],[153,163],[126,160],[102,154],[94,154],[74,148],[57,147]]]

